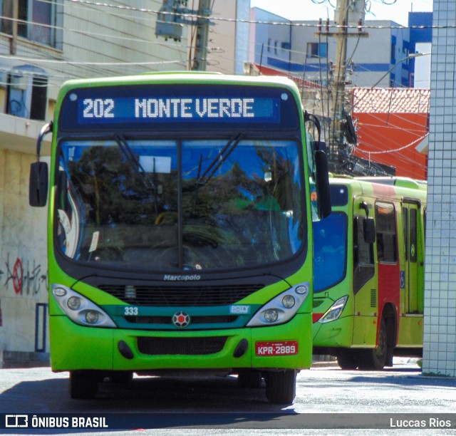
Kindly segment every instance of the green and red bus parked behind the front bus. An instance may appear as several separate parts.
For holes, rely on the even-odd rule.
[[[422,355],[426,183],[330,185],[331,215],[314,222],[314,353],[368,370]]]

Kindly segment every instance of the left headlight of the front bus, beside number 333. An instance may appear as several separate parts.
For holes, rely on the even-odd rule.
[[[53,284],[51,290],[58,306],[74,323],[91,327],[117,327],[108,313],[73,289]]]

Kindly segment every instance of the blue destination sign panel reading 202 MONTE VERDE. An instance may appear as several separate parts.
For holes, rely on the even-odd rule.
[[[63,96],[61,130],[249,130],[299,128],[299,105],[286,88],[252,85],[141,84],[75,88]],[[223,126],[223,127],[222,127]],[[274,126],[274,127],[273,127]]]

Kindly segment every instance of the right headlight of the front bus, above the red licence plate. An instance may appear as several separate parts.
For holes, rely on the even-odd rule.
[[[247,327],[276,326],[290,321],[309,295],[309,283],[282,292],[254,314]]]

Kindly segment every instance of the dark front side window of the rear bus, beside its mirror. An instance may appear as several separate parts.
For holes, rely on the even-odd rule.
[[[364,239],[364,220],[366,217],[354,217],[353,220],[353,292],[356,294],[374,275],[373,244]]]

